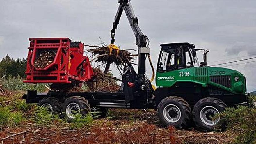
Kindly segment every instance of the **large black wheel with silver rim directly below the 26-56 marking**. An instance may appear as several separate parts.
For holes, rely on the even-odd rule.
[[[189,125],[191,108],[181,97],[166,97],[158,104],[157,113],[162,125],[180,129]]]

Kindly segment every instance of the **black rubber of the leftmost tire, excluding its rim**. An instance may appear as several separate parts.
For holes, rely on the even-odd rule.
[[[60,102],[59,99],[55,97],[45,97],[39,101],[38,105],[39,106],[50,105],[52,108],[52,113],[60,113],[62,103]]]

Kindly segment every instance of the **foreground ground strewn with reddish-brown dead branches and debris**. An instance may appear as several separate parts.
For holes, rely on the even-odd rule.
[[[199,132],[193,128],[176,130],[161,127],[154,110],[110,109],[108,118],[96,119],[93,126],[70,130],[67,127],[39,126],[23,122],[5,127],[0,132],[0,143],[19,144],[221,144],[229,143],[234,135],[224,132]],[[9,136],[9,137],[8,137]]]

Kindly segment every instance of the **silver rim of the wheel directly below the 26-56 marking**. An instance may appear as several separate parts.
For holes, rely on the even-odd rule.
[[[164,107],[163,116],[168,122],[175,123],[175,122],[179,121],[179,119],[181,117],[181,112],[180,112],[180,109],[178,108],[178,106],[176,106],[174,104],[169,104]]]

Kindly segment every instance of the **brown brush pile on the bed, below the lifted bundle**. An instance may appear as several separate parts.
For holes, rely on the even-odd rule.
[[[104,74],[99,68],[93,68],[93,72],[95,73],[94,81],[86,83],[89,91],[116,92],[120,89],[120,86],[117,84],[117,79],[113,77],[110,72]]]

